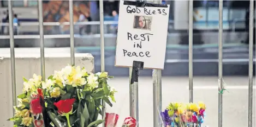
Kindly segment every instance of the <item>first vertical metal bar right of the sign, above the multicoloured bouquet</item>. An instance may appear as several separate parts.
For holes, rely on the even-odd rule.
[[[189,1],[188,10],[188,84],[189,102],[193,102],[193,0]]]

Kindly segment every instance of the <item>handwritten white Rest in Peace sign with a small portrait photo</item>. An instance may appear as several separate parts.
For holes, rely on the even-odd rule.
[[[164,69],[169,8],[135,7],[120,1],[115,66]]]

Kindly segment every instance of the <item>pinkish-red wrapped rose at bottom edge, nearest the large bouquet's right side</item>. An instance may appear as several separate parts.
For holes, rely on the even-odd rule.
[[[105,126],[106,127],[115,127],[118,118],[119,118],[119,115],[117,115],[116,113],[106,113]]]

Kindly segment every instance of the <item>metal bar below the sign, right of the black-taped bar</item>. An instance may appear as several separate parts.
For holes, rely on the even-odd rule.
[[[162,4],[162,0],[153,3]],[[162,126],[159,111],[162,111],[162,70],[153,69],[153,124],[154,127]]]

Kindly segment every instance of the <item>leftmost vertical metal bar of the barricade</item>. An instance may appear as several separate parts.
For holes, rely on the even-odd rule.
[[[11,54],[11,92],[13,93],[13,106],[16,106],[16,78],[15,78],[15,55],[14,55],[14,35],[13,35],[13,2],[8,1],[9,10],[9,34],[10,34],[10,54]],[[15,114],[15,110],[13,110]]]

